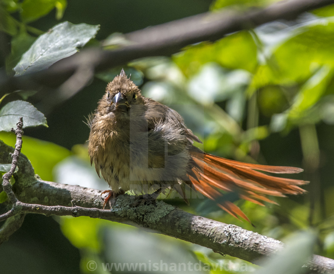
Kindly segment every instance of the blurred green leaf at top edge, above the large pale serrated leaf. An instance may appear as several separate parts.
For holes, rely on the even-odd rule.
[[[48,14],[54,8],[57,8],[57,13],[60,12],[61,18],[66,5],[65,0],[24,0],[21,5],[21,19],[25,23],[32,22]],[[60,19],[59,15],[56,17]]]

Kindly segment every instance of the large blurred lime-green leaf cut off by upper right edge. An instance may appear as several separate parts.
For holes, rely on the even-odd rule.
[[[301,24],[257,68],[249,92],[266,85],[303,83],[324,64],[334,66],[334,17]]]

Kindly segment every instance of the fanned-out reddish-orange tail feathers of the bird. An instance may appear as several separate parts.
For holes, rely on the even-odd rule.
[[[277,204],[265,195],[285,197],[284,194],[302,194],[305,190],[299,186],[309,183],[259,172],[293,174],[302,172],[301,168],[242,163],[204,153],[195,147],[190,149],[190,153],[193,167],[188,172],[189,180],[197,191],[211,200],[221,197],[222,193],[218,190],[223,190],[236,192],[241,199],[262,206],[263,201]],[[221,202],[218,206],[232,216],[250,222],[240,208],[230,201]]]

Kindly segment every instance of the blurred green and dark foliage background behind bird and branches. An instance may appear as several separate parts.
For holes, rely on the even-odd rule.
[[[13,73],[12,68],[36,37],[63,21],[100,25],[88,47],[115,32],[127,33],[208,10],[245,10],[272,2],[6,0],[0,3],[0,67]],[[255,227],[222,212],[208,200],[194,199],[187,206],[170,196],[165,202],[297,247],[298,238],[303,237],[294,233],[308,231],[312,235],[307,242],[310,252],[334,259],[332,16],[334,7],[328,6],[294,21],[276,21],[214,43],[190,45],[173,56],[124,64],[145,96],[181,113],[203,141],[201,149],[238,161],[302,167],[305,172],[291,178],[311,181],[303,196],[275,198],[281,206],[260,207],[230,197]],[[42,91],[26,99],[47,119],[48,127],[24,130],[22,148],[43,180],[107,189],[90,166],[89,128],[83,121],[121,68],[97,74],[93,82],[60,105],[50,107],[48,93]],[[6,96],[0,108],[16,99],[22,97]],[[0,132],[0,140],[15,144],[8,132]],[[6,207],[0,210],[5,212]],[[296,252],[291,259],[298,255]],[[107,272],[101,263],[149,260],[225,266],[221,271],[211,269],[211,273],[237,273],[241,264],[247,271],[258,268],[178,239],[85,217],[27,215],[22,227],[0,248],[1,273],[92,273],[87,267],[91,260],[99,264],[95,273]]]

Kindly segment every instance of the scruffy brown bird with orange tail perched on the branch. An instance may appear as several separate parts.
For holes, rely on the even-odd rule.
[[[108,83],[88,119],[91,165],[94,163],[99,177],[101,174],[111,188],[102,192],[108,193],[103,209],[110,197],[127,191],[138,196],[150,192],[156,194],[152,196],[155,199],[172,189],[188,203],[189,189],[250,222],[237,205],[221,197],[235,193],[240,199],[264,206],[264,202],[277,204],[270,196],[306,192],[300,186],[308,181],[267,174],[300,173],[301,168],[243,163],[203,152],[194,146],[194,142],[202,142],[181,115],[144,97],[130,77],[122,69]]]

